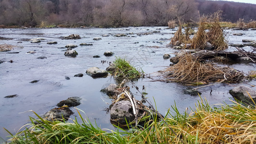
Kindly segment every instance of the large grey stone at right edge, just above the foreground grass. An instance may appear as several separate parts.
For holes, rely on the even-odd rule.
[[[242,101],[242,102],[249,102],[253,104],[253,101],[251,100],[250,96],[247,94],[247,92],[250,94],[254,102],[256,102],[256,90],[251,89],[250,87],[240,85],[232,90],[229,91],[229,93],[235,97],[236,99]]]

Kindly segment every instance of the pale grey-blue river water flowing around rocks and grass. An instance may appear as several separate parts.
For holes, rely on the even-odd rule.
[[[156,31],[155,33],[153,33]],[[152,32],[150,35],[138,36],[139,33]],[[111,83],[117,83],[113,77],[97,78],[86,75],[86,70],[90,67],[106,69],[108,62],[115,60],[115,56],[126,58],[137,68],[141,68],[147,74],[158,72],[170,65],[169,60],[163,59],[163,54],[169,53],[175,56],[177,51],[167,47],[170,38],[175,31],[166,27],[128,27],[128,28],[28,28],[28,29],[0,29],[0,44],[10,44],[22,46],[14,48],[8,53],[0,52],[0,60],[13,62],[3,62],[0,64],[0,137],[3,139],[9,135],[3,127],[12,133],[19,130],[21,126],[28,122],[29,116],[36,116],[28,110],[34,110],[42,115],[61,100],[71,96],[82,98],[82,104],[77,108],[85,112],[84,117],[96,121],[101,128],[114,129],[110,124],[110,115],[104,111],[111,104],[111,99],[100,93],[100,90]],[[229,36],[229,43],[241,44],[242,39],[256,38],[256,31],[233,31],[226,30]],[[233,33],[244,33],[244,36],[233,36]],[[77,34],[81,39],[61,39],[60,36]],[[128,34],[127,36],[116,37],[116,34]],[[109,35],[103,37],[102,35]],[[101,40],[93,40],[95,37]],[[41,43],[30,43],[32,38],[44,38]],[[58,44],[48,45],[47,42],[57,41]],[[20,43],[22,42],[22,43]],[[93,46],[79,46],[80,43],[89,43]],[[74,48],[78,55],[76,58],[65,57],[64,51],[67,44],[75,44]],[[250,47],[245,47],[250,49]],[[36,51],[35,54],[26,54],[28,51]],[[233,51],[235,48],[229,48]],[[105,51],[114,52],[114,56],[105,57]],[[93,58],[99,55],[100,58]],[[47,59],[37,59],[39,56]],[[102,60],[106,60],[102,64]],[[223,65],[223,64],[220,64]],[[237,63],[229,65],[237,70],[249,72],[256,70],[256,64]],[[83,73],[83,77],[74,77],[77,73]],[[153,74],[151,74],[153,75]],[[70,77],[66,80],[65,76]],[[39,80],[37,83],[29,83]],[[199,96],[183,94],[187,88],[182,84],[152,82],[149,78],[139,79],[134,82],[139,90],[145,85],[147,97],[157,110],[165,114],[166,111],[176,103],[177,108],[183,112],[185,108],[195,108],[195,103],[200,100]],[[256,81],[245,85],[256,84]],[[136,95],[136,89],[131,87],[131,91]],[[230,104],[233,97],[228,93],[237,84],[215,84],[199,89],[202,97],[206,97],[209,104]],[[210,90],[212,92],[210,93]],[[13,98],[4,96],[17,95]],[[155,102],[154,102],[155,100]],[[72,108],[73,119],[78,115]]]

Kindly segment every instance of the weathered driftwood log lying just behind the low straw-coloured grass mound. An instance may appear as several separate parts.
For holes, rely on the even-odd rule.
[[[210,51],[210,50],[201,50],[191,55],[197,60],[207,60],[216,57],[230,58],[230,60],[236,61],[237,58],[247,57],[248,62],[256,62],[256,48],[252,48],[251,51],[245,51],[243,48],[236,47],[238,51],[227,52],[227,51]],[[184,53],[185,54],[185,53]],[[174,64],[178,63],[180,59],[183,58],[183,55],[178,54],[176,57],[172,57],[170,61]]]

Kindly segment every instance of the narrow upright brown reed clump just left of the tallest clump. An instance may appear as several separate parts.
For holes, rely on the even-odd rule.
[[[206,30],[206,25],[207,25],[207,16],[202,16],[199,18],[199,27],[198,31],[195,34],[195,36],[192,38],[192,49],[204,49],[206,47],[206,42],[207,42],[207,33],[205,32]]]

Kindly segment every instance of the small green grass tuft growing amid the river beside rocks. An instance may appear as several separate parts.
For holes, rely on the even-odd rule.
[[[142,72],[140,72],[134,66],[132,66],[130,62],[120,57],[116,57],[113,63],[115,65],[115,72],[113,75],[117,78],[135,79],[144,75],[142,70]]]

